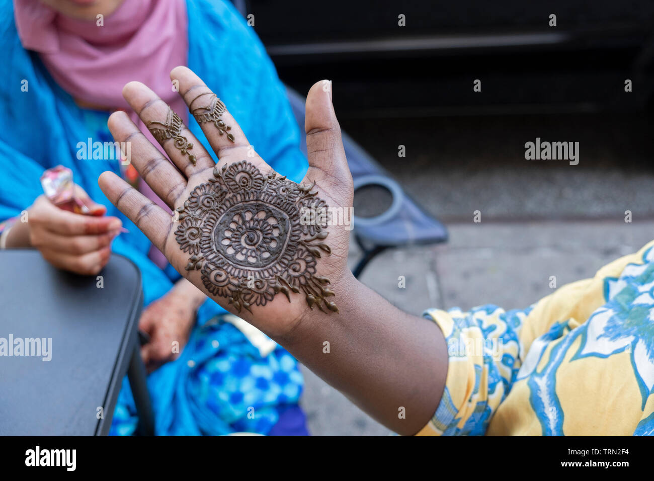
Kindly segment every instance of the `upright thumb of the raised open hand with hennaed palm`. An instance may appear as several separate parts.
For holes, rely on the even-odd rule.
[[[332,82],[320,80],[313,84],[307,95],[304,130],[307,134],[309,171],[307,179],[324,175],[337,177],[343,182],[350,176],[341,140],[341,127],[332,105]]]

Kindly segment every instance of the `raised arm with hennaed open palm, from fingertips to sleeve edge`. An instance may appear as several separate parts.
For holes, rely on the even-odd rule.
[[[354,279],[346,263],[349,230],[322,218],[322,207],[349,209],[353,198],[331,85],[319,82],[307,96],[309,170],[296,185],[251,150],[192,71],[177,67],[171,77],[220,162],[149,88],[131,82],[125,98],[174,165],[125,113],[114,113],[109,129],[116,141],[131,141],[133,165],[178,219],[113,173],[100,176],[102,190],[196,287],[373,418],[398,433],[417,432],[443,393],[447,344],[436,323],[398,310]],[[331,350],[324,351],[326,342]]]

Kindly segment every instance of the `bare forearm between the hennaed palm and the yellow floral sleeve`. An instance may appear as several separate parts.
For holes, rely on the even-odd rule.
[[[392,306],[349,272],[338,287],[339,313],[314,309],[278,342],[377,421],[402,435],[417,433],[445,385],[441,330]]]

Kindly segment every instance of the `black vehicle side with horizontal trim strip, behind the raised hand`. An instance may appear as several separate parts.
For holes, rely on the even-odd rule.
[[[328,72],[339,116],[651,107],[654,3],[241,0],[281,79]],[[405,27],[398,16],[405,16]],[[557,26],[549,26],[549,16]],[[473,80],[482,81],[482,94]],[[633,82],[625,97],[624,82]]]

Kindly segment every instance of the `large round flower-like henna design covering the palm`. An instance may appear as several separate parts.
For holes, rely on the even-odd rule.
[[[316,275],[316,258],[331,250],[326,226],[303,225],[305,208],[326,206],[313,191],[274,171],[265,176],[246,160],[218,169],[179,207],[175,239],[189,253],[186,270],[200,270],[211,294],[237,312],[264,306],[277,293],[305,294],[309,307],[338,312],[334,292]]]

